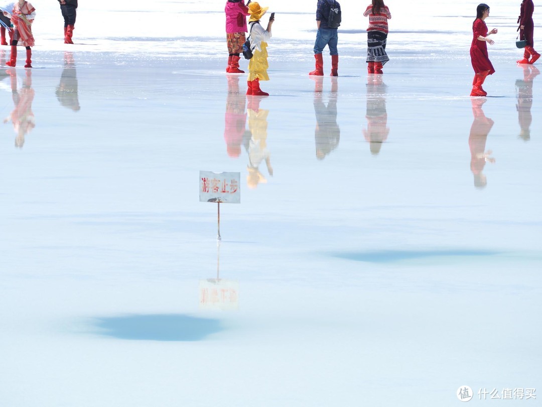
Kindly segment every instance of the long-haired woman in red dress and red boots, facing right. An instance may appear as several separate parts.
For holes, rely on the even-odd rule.
[[[493,65],[487,55],[487,42],[493,45],[495,42],[489,39],[489,35],[496,34],[497,29],[494,28],[489,33],[484,20],[489,16],[489,6],[487,4],[479,4],[476,8],[476,20],[473,23],[473,42],[470,45],[470,62],[474,69],[473,90],[470,96],[486,96],[487,92],[482,89],[483,81],[487,75],[495,72]]]

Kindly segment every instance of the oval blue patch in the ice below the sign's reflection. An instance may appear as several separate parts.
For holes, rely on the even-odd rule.
[[[219,320],[183,314],[101,317],[95,325],[101,335],[140,341],[201,341],[224,329]]]

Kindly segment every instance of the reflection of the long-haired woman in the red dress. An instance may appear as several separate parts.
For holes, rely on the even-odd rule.
[[[474,121],[470,126],[469,148],[470,148],[470,170],[474,175],[474,186],[476,188],[485,188],[487,185],[486,175],[482,173],[486,162],[495,162],[495,158],[490,157],[491,150],[486,149],[486,139],[489,131],[493,127],[493,120],[486,117],[482,110],[482,105],[486,103],[486,98],[471,99]]]

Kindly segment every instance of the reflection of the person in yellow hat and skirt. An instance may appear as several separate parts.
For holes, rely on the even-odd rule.
[[[248,96],[248,128],[250,139],[247,139],[245,148],[248,152],[247,185],[256,188],[259,183],[266,183],[266,177],[260,172],[260,164],[265,161],[267,171],[273,176],[271,158],[267,149],[267,115],[268,110],[260,109],[261,96]]]

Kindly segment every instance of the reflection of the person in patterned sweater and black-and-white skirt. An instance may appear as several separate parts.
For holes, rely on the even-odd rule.
[[[386,84],[380,75],[367,77],[367,129],[363,129],[365,140],[369,142],[371,154],[376,156],[382,143],[388,139],[388,112],[386,111]]]

